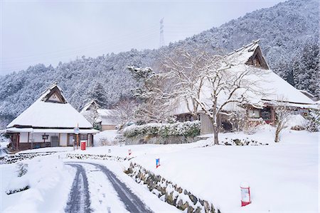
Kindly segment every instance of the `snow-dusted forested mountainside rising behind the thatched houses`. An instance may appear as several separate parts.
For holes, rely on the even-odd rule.
[[[102,107],[112,107],[119,99],[131,97],[137,87],[127,66],[152,67],[157,72],[159,61],[181,46],[209,44],[213,51],[228,53],[257,39],[272,70],[294,87],[319,97],[319,1],[286,1],[158,50],[119,54],[106,50],[106,55],[97,58],[82,56],[57,67],[32,65],[0,77],[0,129],[53,82],[58,82],[76,109],[92,98]]]

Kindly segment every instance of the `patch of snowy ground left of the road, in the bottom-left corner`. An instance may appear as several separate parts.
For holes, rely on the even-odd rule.
[[[75,170],[64,165],[58,155],[23,160],[28,172],[16,173],[16,163],[0,165],[0,212],[63,212],[68,200]],[[7,195],[17,187],[29,189]]]

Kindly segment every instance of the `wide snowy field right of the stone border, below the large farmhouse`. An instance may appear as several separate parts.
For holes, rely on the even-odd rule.
[[[250,136],[221,133],[223,138],[250,138],[270,145],[205,147],[212,142],[208,138],[188,144],[104,146],[76,152],[124,157],[131,149],[133,162],[212,202],[222,212],[319,211],[319,133],[286,129],[279,143],[273,142],[272,128]],[[161,163],[157,169],[156,158]],[[243,181],[250,184],[252,193],[247,207],[240,207]]]

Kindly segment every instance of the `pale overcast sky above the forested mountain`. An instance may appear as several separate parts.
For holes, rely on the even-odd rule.
[[[82,55],[159,48],[161,18],[168,44],[280,1],[0,0],[0,75]]]

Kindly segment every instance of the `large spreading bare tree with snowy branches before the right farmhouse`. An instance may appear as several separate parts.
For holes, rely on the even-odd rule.
[[[206,50],[196,50],[193,54],[181,51],[179,55],[182,60],[167,58],[164,64],[169,69],[164,76],[176,80],[171,94],[175,94],[177,99],[184,99],[193,115],[202,111],[209,116],[213,124],[214,143],[218,144],[219,114],[232,104],[249,103],[248,94],[262,94],[257,82],[263,74],[247,65],[232,69],[225,57]],[[250,75],[255,75],[255,78],[250,78]]]

